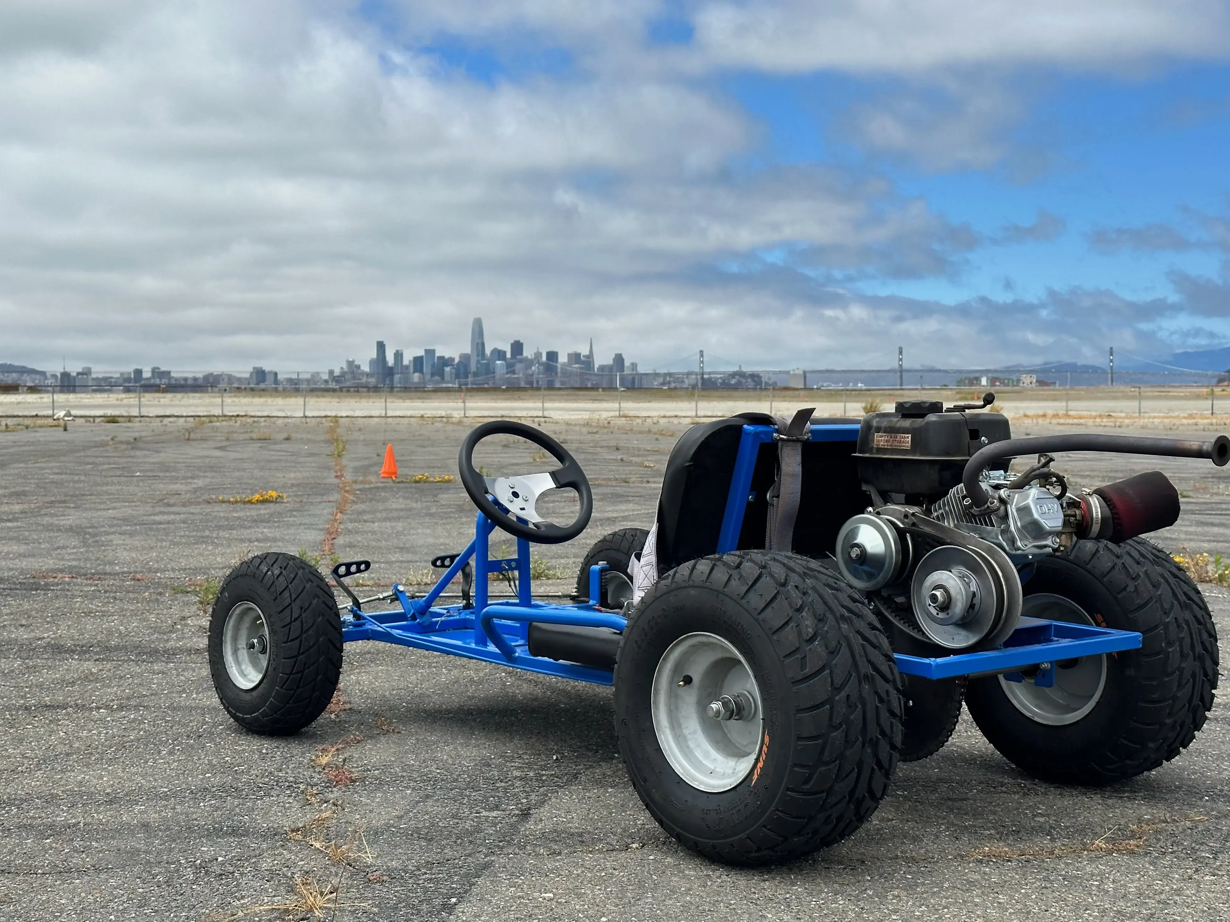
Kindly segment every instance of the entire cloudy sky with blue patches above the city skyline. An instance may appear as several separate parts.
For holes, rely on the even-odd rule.
[[[1228,149],[1226,0],[4,0],[0,361],[1224,345]]]

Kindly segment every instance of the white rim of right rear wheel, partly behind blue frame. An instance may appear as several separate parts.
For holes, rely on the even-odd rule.
[[[1026,596],[1021,615],[1076,625],[1093,623],[1093,618],[1071,599],[1047,593]],[[1055,674],[1055,684],[1049,687],[1034,685],[1032,677],[1023,682],[1010,682],[1004,676],[1000,676],[1000,687],[1017,711],[1048,727],[1074,724],[1097,707],[1106,688],[1105,654],[1060,660],[1052,664],[1052,671]]]

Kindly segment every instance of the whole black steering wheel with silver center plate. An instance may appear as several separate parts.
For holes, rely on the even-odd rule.
[[[517,435],[549,452],[561,467],[547,473],[530,473],[523,477],[483,477],[474,466],[474,450],[488,435]],[[560,443],[525,423],[496,419],[470,430],[461,443],[458,456],[461,486],[478,511],[515,537],[540,545],[562,545],[577,537],[589,524],[594,511],[594,494],[589,481],[577,460]],[[581,499],[581,511],[571,525],[556,525],[542,519],[534,505],[549,489],[574,489]],[[494,497],[494,499],[492,499]]]

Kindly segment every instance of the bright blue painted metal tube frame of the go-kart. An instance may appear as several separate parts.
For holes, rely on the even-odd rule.
[[[811,428],[812,441],[857,441],[859,425],[850,423],[817,424]],[[760,446],[774,440],[769,425],[744,425],[731,478],[731,492],[718,532],[717,551],[734,551],[743,529],[743,514],[750,502],[752,475]],[[422,599],[411,599],[405,586],[394,585],[400,607],[390,611],[365,612],[355,605],[343,609],[342,640],[384,640],[419,650],[448,653],[454,656],[498,663],[528,672],[574,679],[595,685],[611,685],[614,674],[605,669],[560,663],[529,652],[529,626],[572,625],[576,627],[624,631],[622,615],[598,607],[601,572],[605,564],[589,569],[589,601],[578,605],[550,605],[534,601],[530,586],[530,545],[517,538],[517,557],[490,559],[490,538],[496,524],[478,513],[475,536],[458,554],[439,581]],[[466,562],[474,559],[474,604],[437,606],[445,586],[451,583]],[[491,600],[488,575],[493,572],[517,573],[517,597]],[[1025,681],[1022,669],[1038,666],[1032,681],[1054,684],[1059,661],[1121,650],[1134,650],[1141,636],[1134,631],[1113,631],[1105,627],[1070,625],[1061,621],[1021,618],[1021,623],[999,649],[982,653],[958,653],[951,656],[910,656],[895,654],[897,668],[905,675],[922,679],[951,679],[961,675],[1002,674],[1009,681]]]

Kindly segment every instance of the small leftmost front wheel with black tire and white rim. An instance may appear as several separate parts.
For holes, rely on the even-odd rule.
[[[342,671],[342,622],[320,572],[284,553],[231,570],[209,618],[209,671],[226,713],[255,733],[320,717]]]

